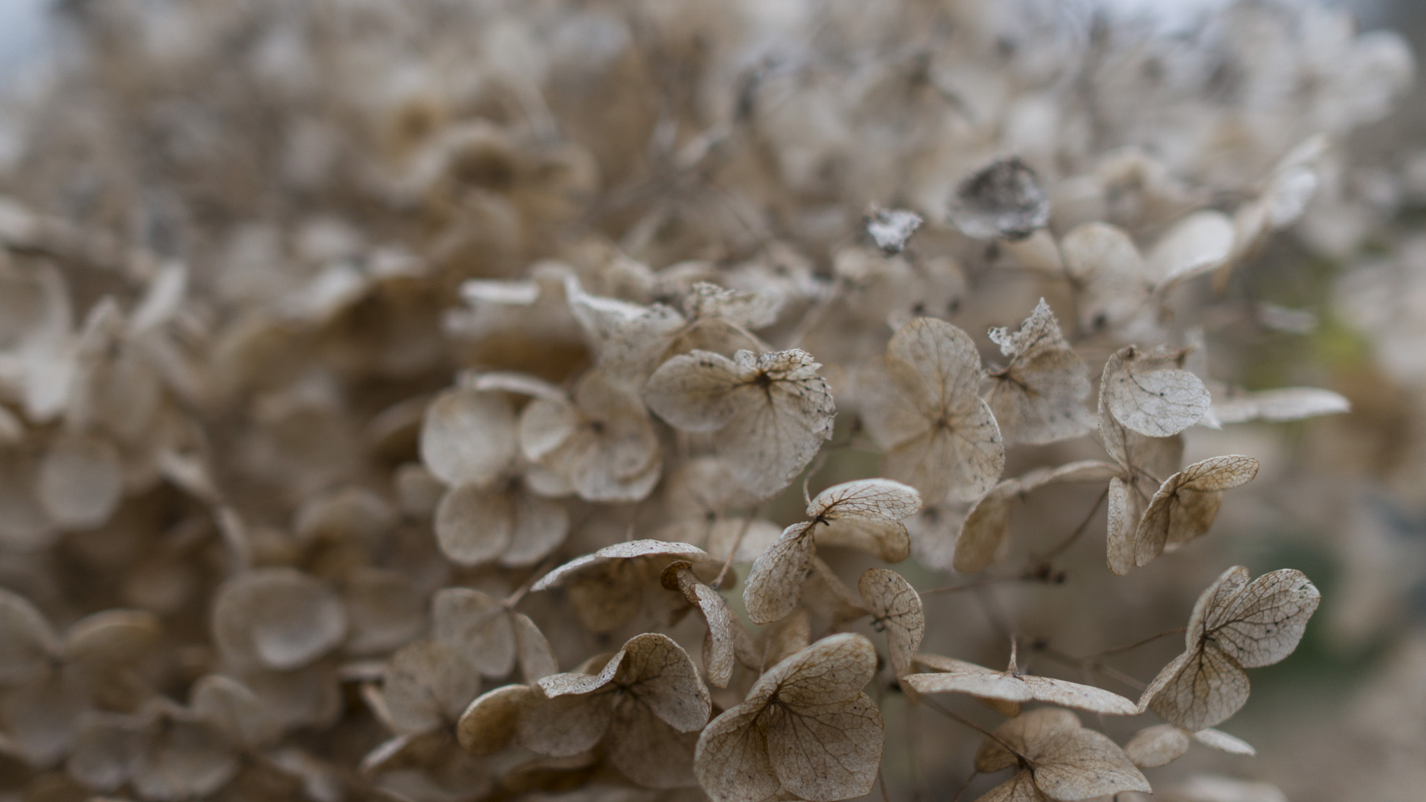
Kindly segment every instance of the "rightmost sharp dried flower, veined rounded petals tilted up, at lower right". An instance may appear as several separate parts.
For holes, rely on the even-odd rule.
[[[1186,651],[1144,691],[1141,711],[1195,732],[1214,726],[1248,701],[1245,668],[1272,665],[1298,648],[1322,594],[1291,568],[1248,577],[1235,565],[1198,597]]]

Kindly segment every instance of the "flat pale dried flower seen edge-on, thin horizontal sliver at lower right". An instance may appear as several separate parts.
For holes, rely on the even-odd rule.
[[[1020,674],[1014,662],[1007,671],[995,671],[954,658],[918,654],[915,664],[934,669],[934,674],[911,674],[903,678],[918,694],[967,694],[981,699],[1017,704],[1050,702],[1107,715],[1138,712],[1134,702],[1118,694],[1065,679]]]

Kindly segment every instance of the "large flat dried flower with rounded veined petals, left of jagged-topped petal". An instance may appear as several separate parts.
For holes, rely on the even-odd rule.
[[[935,318],[915,318],[887,344],[884,378],[864,377],[863,420],[886,450],[881,471],[925,504],[980,498],[1005,467],[971,338]],[[873,371],[876,372],[876,371]]]

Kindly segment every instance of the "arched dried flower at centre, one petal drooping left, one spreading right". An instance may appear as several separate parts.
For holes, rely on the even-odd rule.
[[[807,502],[809,519],[783,529],[753,564],[743,588],[747,616],[770,624],[797,606],[817,559],[817,542],[866,549],[888,562],[906,559],[911,541],[901,519],[918,509],[915,489],[890,479],[858,479],[821,491]]]

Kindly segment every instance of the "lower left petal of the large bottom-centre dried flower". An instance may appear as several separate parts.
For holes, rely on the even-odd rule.
[[[760,725],[763,702],[744,702],[714,718],[699,736],[693,772],[714,802],[763,802],[781,782]]]

